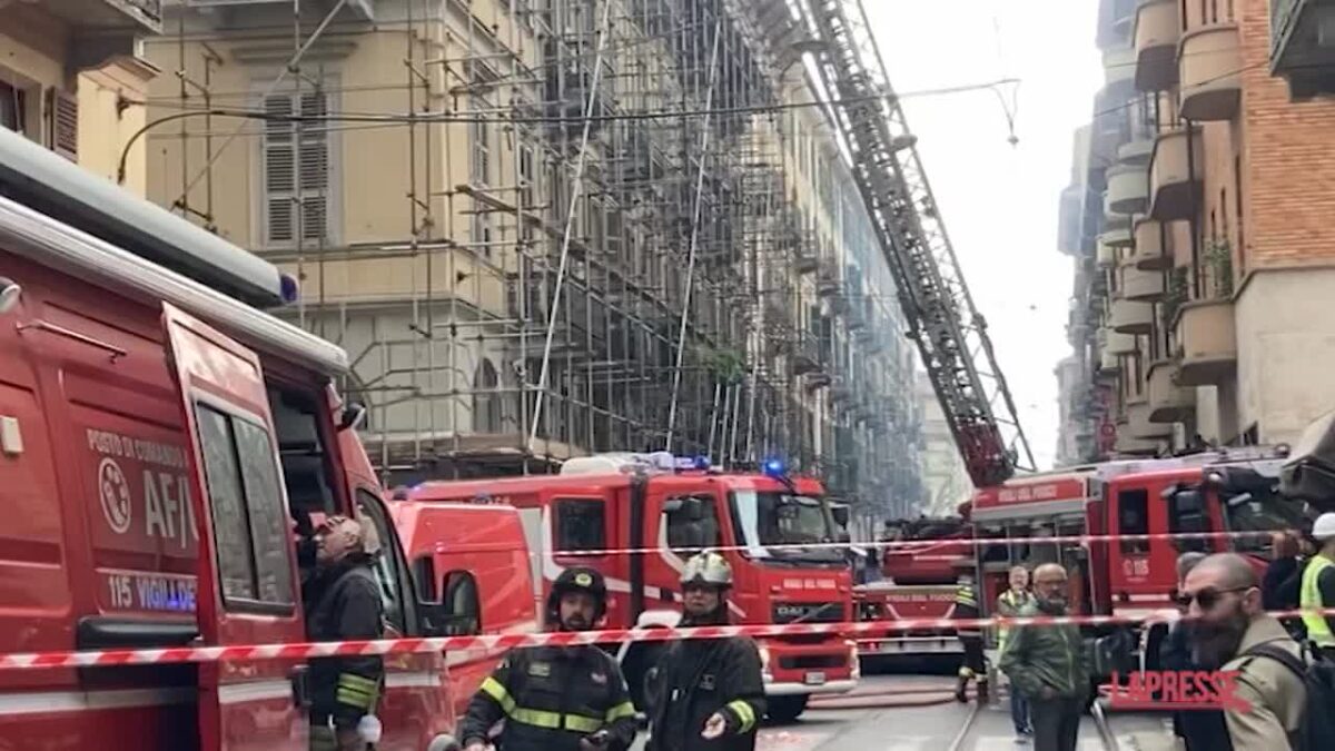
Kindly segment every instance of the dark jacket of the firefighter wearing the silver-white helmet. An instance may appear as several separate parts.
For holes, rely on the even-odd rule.
[[[765,716],[760,651],[744,636],[672,643],[658,660],[651,751],[754,751]],[[724,734],[701,738],[718,712]]]

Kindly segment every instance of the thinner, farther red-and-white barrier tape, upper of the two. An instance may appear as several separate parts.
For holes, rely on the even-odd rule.
[[[1059,535],[1052,537],[937,537],[932,540],[885,540],[880,543],[785,543],[774,545],[706,545],[705,548],[666,548],[666,547],[653,547],[653,548],[601,548],[595,551],[551,551],[549,553],[541,553],[538,551],[530,551],[529,556],[554,556],[554,557],[601,557],[611,555],[629,555],[629,553],[659,553],[659,552],[674,552],[674,553],[693,553],[700,549],[708,549],[717,553],[722,552],[748,552],[754,549],[762,549],[766,552],[786,551],[842,551],[845,548],[868,548],[868,549],[892,549],[892,548],[914,548],[921,549],[930,545],[968,545],[973,548],[987,547],[987,545],[1025,545],[1025,544],[1040,544],[1040,545],[1088,545],[1091,543],[1148,543],[1151,540],[1231,540],[1235,537],[1271,537],[1283,532],[1282,529],[1270,531],[1234,531],[1234,532],[1153,532],[1148,535]]]

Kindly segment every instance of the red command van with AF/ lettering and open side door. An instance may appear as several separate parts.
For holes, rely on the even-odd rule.
[[[3,128],[0,188],[0,651],[306,641],[294,531],[354,509],[392,631],[429,633],[346,354],[258,309],[291,279]],[[379,747],[453,742],[441,660],[386,657]],[[0,672],[0,738],[298,751],[308,695],[300,659]]]

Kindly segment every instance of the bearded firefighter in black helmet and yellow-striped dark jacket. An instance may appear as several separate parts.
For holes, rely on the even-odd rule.
[[[546,623],[589,631],[607,611],[607,585],[591,568],[561,572],[547,597]],[[513,649],[463,718],[465,751],[482,751],[493,726],[505,751],[619,751],[635,739],[635,707],[615,657],[593,644]]]

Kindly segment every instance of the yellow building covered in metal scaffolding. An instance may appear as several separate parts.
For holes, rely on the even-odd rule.
[[[920,496],[913,353],[785,3],[168,5],[150,195],[296,273],[391,481],[668,448]]]

